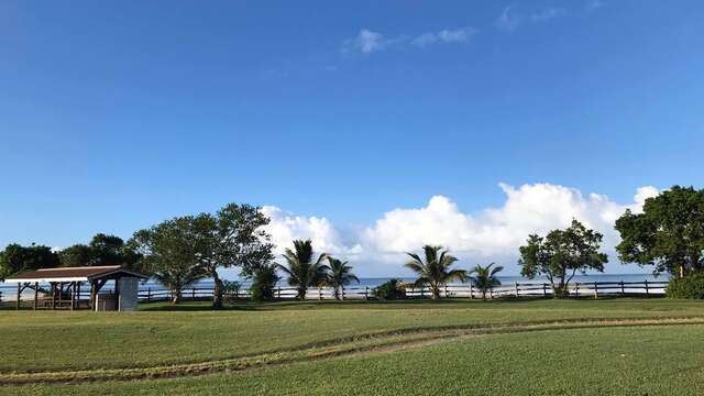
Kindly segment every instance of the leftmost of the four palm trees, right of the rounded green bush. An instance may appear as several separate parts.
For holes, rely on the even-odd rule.
[[[286,265],[278,264],[278,267],[288,275],[288,284],[296,286],[296,298],[302,300],[306,299],[308,287],[315,287],[326,283],[330,268],[322,264],[322,262],[328,254],[320,254],[318,260],[314,262],[312,243],[310,240],[294,241],[294,249],[295,252],[286,249],[286,252],[284,252]]]

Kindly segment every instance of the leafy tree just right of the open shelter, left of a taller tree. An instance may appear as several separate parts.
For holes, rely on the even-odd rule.
[[[200,241],[193,224],[190,216],[174,218],[135,232],[131,241],[141,265],[170,290],[174,304],[183,288],[208,276],[197,258]]]

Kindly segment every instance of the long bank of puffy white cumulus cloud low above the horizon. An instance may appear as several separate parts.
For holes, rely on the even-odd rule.
[[[265,207],[264,213],[272,219],[267,231],[279,251],[293,239],[310,238],[319,251],[353,258],[364,275],[400,273],[404,252],[424,244],[448,246],[472,263],[499,261],[517,273],[518,248],[528,234],[565,228],[573,218],[602,232],[603,250],[612,253],[618,243],[615,220],[626,209],[641,211],[645,200],[658,194],[654,187],[641,187],[631,202],[618,204],[605,195],[585,195],[552,184],[501,184],[499,188],[506,196],[504,202],[476,213],[463,212],[450,198],[435,196],[424,207],[391,210],[373,224],[350,232],[340,231],[326,218],[295,216],[276,207]]]

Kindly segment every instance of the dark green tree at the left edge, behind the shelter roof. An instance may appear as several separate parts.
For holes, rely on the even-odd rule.
[[[24,271],[51,268],[58,265],[58,255],[48,246],[35,245],[34,243],[30,246],[22,246],[12,243],[0,252],[0,279]]]

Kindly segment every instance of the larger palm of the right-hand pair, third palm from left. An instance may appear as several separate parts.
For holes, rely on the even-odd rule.
[[[450,270],[450,266],[458,258],[448,254],[448,250],[442,250],[442,246],[431,245],[425,245],[422,249],[426,256],[425,263],[418,254],[407,253],[413,260],[406,263],[406,267],[419,275],[415,286],[430,286],[430,297],[432,299],[440,298],[440,287],[447,285],[448,282],[455,279],[465,282],[468,279],[466,271]]]

